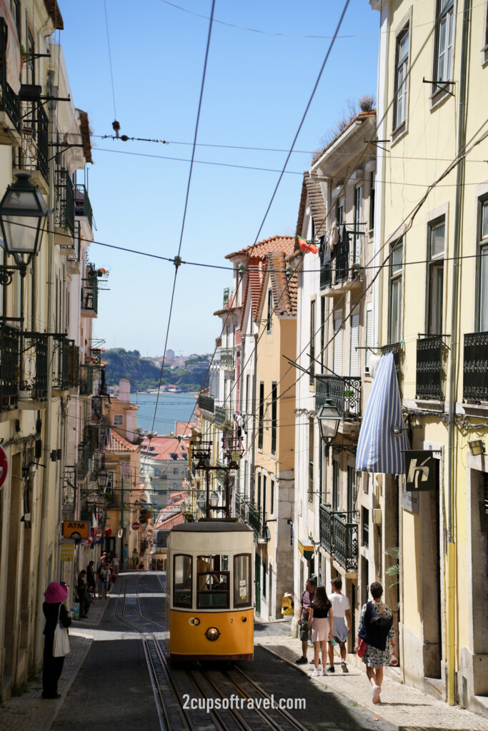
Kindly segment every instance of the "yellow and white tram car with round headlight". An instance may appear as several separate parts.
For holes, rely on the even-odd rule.
[[[244,523],[181,523],[168,534],[166,647],[173,661],[252,660],[254,537]]]

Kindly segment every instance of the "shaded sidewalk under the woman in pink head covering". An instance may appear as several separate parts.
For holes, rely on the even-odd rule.
[[[61,698],[42,700],[42,678],[28,683],[25,693],[11,697],[0,707],[1,731],[26,731],[26,729],[48,731],[93,642],[91,637],[83,635],[83,627],[98,626],[108,604],[109,600],[96,599],[91,605],[89,616],[86,619],[72,622],[70,654],[64,659],[63,672],[58,683]]]

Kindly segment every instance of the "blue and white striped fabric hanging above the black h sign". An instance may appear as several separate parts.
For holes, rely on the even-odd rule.
[[[405,429],[402,417],[397,373],[393,353],[383,355],[364,412],[356,454],[356,471],[405,474],[402,450],[410,449],[408,436],[394,427]]]

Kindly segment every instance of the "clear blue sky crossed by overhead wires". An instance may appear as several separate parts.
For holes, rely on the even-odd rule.
[[[209,20],[194,14],[208,17],[211,11],[211,0],[175,4],[106,0],[113,94],[104,0],[83,0],[82,5],[59,0],[64,19],[59,40],[73,99],[89,113],[94,135],[113,134],[116,117],[121,135],[170,141],[94,137],[89,172],[94,237],[163,257],[178,251],[209,30]],[[342,8],[342,0],[217,0],[214,19],[264,32],[214,23],[198,142],[288,150]],[[296,143],[305,152],[293,154],[287,170],[301,173],[309,167],[310,153],[347,113],[348,99],[375,94],[378,22],[367,0],[350,1],[342,37]],[[285,157],[285,152],[214,146],[198,147],[195,154],[197,161],[274,170],[281,169]],[[226,265],[225,254],[252,244],[277,178],[274,172],[196,163],[183,260]],[[300,191],[301,175],[285,174],[259,239],[295,232]],[[110,270],[110,291],[100,295],[95,336],[105,338],[105,347],[161,355],[173,265],[98,245],[91,246],[91,260]],[[219,319],[212,313],[222,306],[222,291],[230,284],[228,271],[181,265],[170,348],[184,354],[213,350]]]

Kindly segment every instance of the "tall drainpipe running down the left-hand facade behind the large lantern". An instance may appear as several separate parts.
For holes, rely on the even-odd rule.
[[[48,85],[47,91],[48,96],[58,96],[58,88],[54,86],[54,72],[48,71]],[[56,100],[48,102],[48,118],[49,118],[49,135],[48,139],[50,142],[54,141],[54,124],[55,124],[55,113],[56,113]],[[50,211],[54,211],[55,200],[54,200],[54,174],[55,174],[55,160],[51,156],[49,161],[49,195],[48,195],[48,206]],[[48,333],[52,332],[53,323],[53,251],[54,251],[54,214],[51,213],[48,217]],[[33,303],[34,304],[34,303]],[[51,409],[53,405],[53,338],[48,336],[48,397],[46,399],[45,408],[45,420],[44,420],[44,450],[43,450],[43,463],[44,472],[42,474],[42,503],[41,503],[41,524],[40,524],[40,537],[39,537],[39,562],[37,569],[37,618],[36,618],[36,632],[35,632],[35,648],[34,656],[40,659],[42,654],[42,632],[44,629],[44,617],[42,614],[42,602],[44,601],[44,591],[46,588],[46,564],[47,564],[47,553],[48,553],[48,504],[49,504],[49,491],[50,491],[50,430],[51,430]],[[55,534],[56,537],[56,534]],[[53,547],[53,561],[58,560],[58,547]]]

